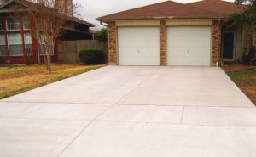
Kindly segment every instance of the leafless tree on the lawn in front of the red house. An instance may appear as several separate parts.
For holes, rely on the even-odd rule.
[[[62,0],[61,5],[56,5],[55,0],[23,0],[26,8],[20,8],[12,14],[23,24],[30,27],[31,35],[38,42],[39,52],[44,55],[46,68],[51,73],[51,56],[57,38],[61,36],[62,27],[67,21],[67,13],[70,8],[67,5],[71,1]],[[24,20],[27,18],[27,20]]]

